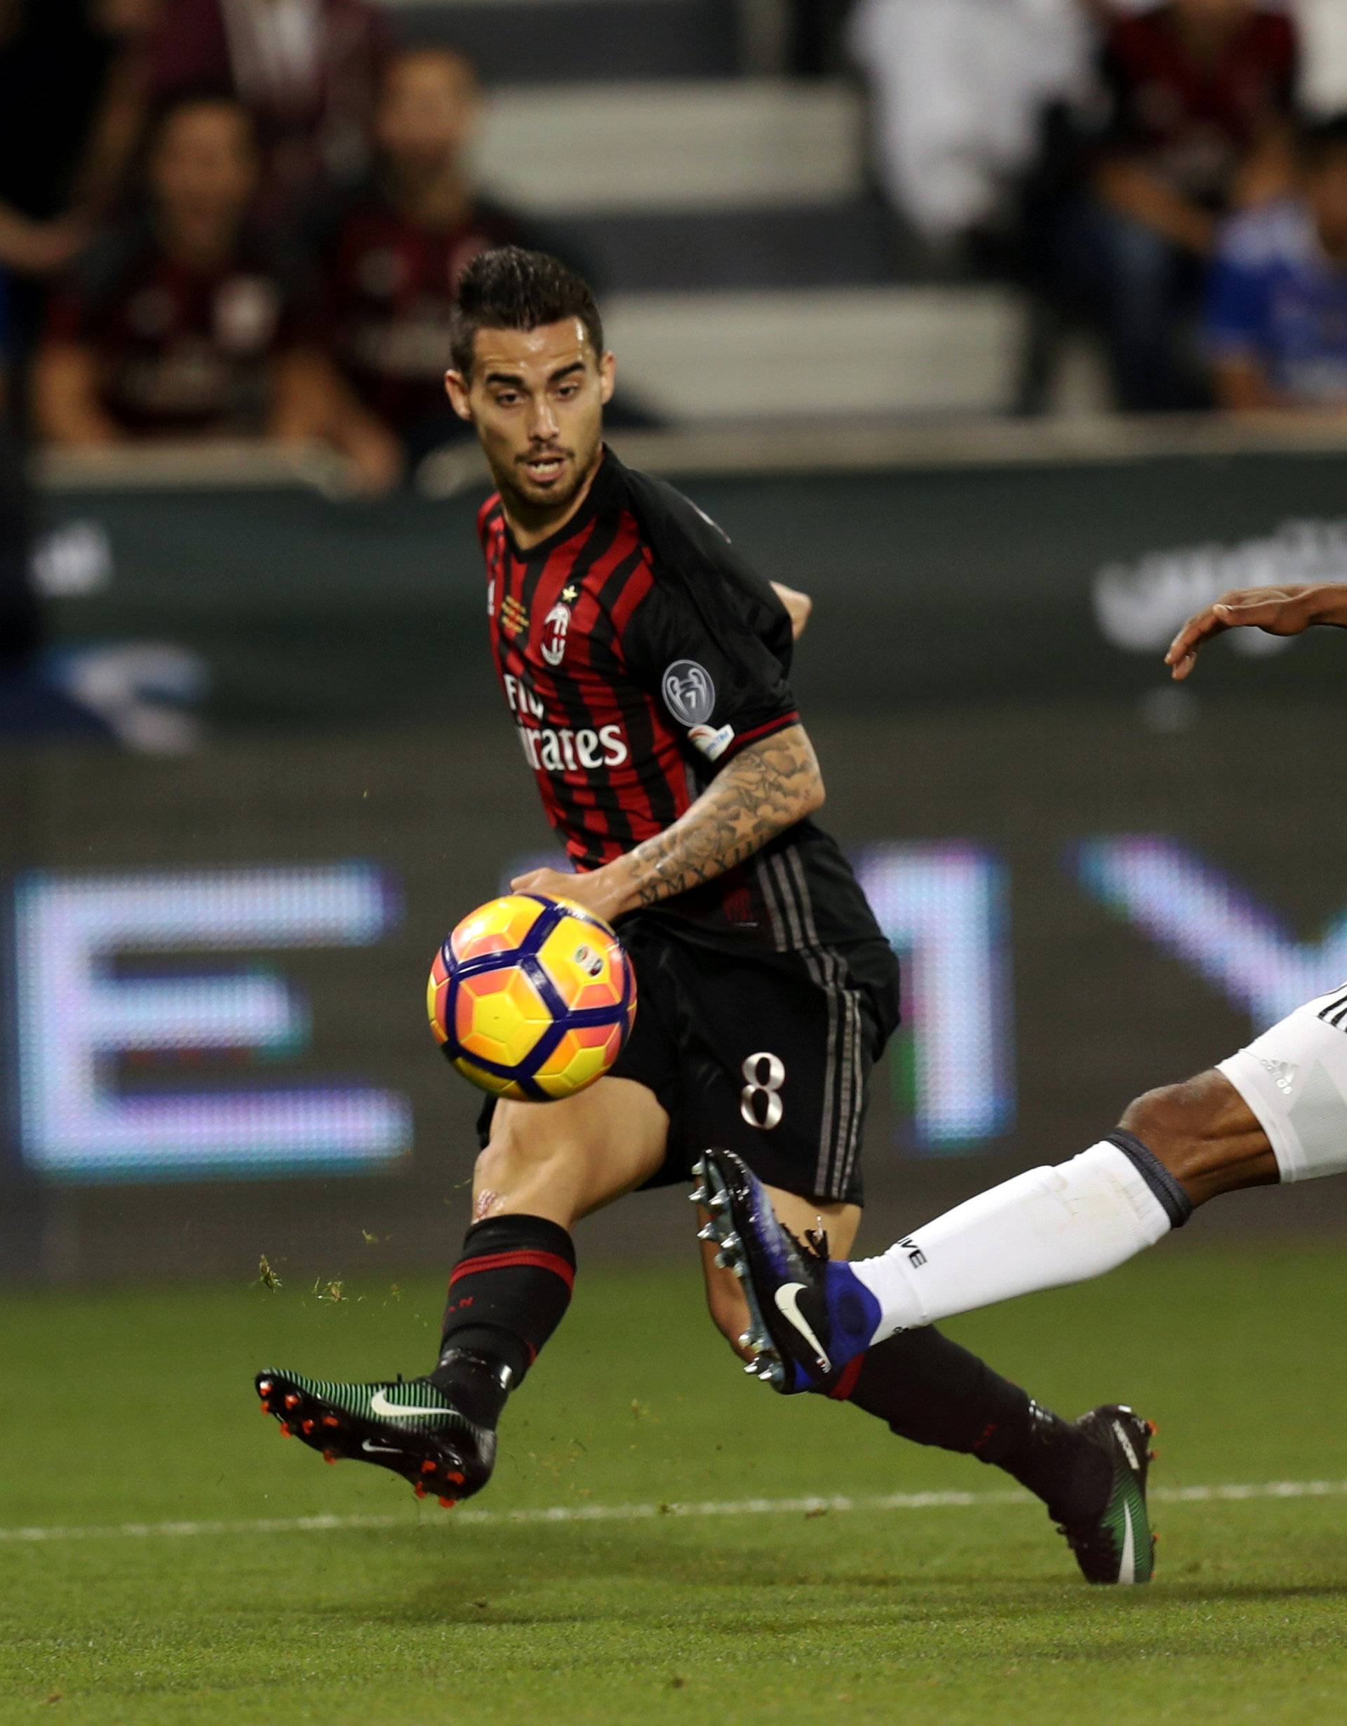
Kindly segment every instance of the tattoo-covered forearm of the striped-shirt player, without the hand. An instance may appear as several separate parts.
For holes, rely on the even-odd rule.
[[[627,853],[636,904],[658,904],[715,880],[824,801],[803,725],[749,744],[661,834]]]

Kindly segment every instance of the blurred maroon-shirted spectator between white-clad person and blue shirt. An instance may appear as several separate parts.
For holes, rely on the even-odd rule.
[[[1072,242],[1119,406],[1207,406],[1193,342],[1205,262],[1221,219],[1285,183],[1297,69],[1292,19],[1255,0],[1169,0],[1114,21]]]

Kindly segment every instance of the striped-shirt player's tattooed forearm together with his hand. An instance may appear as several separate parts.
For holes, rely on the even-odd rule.
[[[541,868],[516,892],[575,899],[599,917],[622,917],[715,880],[762,851],[824,803],[824,777],[803,725],[787,725],[729,761],[670,827],[585,875]]]

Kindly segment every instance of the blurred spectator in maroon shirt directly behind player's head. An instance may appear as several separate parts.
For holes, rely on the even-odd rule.
[[[395,55],[375,109],[375,173],[316,219],[338,364],[411,461],[465,430],[444,394],[458,278],[494,245],[556,250],[477,195],[466,157],[480,112],[477,74],[461,55]]]

